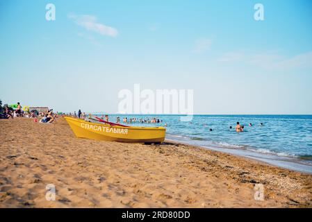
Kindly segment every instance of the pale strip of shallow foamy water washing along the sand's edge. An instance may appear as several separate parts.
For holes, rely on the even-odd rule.
[[[219,146],[205,146],[202,144],[196,144],[196,142],[190,139],[182,139],[178,141],[175,138],[169,136],[169,139],[166,140],[171,142],[177,142],[181,144],[186,144],[190,146],[199,146],[202,148],[207,148],[212,151],[217,151],[221,153],[228,153],[231,155],[236,155],[238,157],[245,157],[251,160],[258,160],[260,162],[264,162],[266,164],[270,164],[274,167],[281,167],[283,169],[289,169],[293,171],[298,171],[300,173],[308,173],[312,174],[312,164],[310,162],[299,159],[299,157],[287,157],[280,156],[274,153],[260,153],[256,151],[249,151],[243,148],[230,148],[230,147],[219,147]]]

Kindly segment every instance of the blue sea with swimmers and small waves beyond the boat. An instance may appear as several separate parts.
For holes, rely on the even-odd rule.
[[[101,114],[97,114],[101,116]],[[128,123],[131,126],[165,126],[166,139],[215,151],[249,157],[268,164],[312,173],[312,115],[183,115],[110,114],[120,117],[157,118],[161,123]],[[188,119],[188,121],[184,121]],[[237,133],[236,122],[244,126]],[[252,126],[249,126],[251,123]],[[261,125],[262,123],[262,125]],[[232,126],[232,128],[230,128]]]

